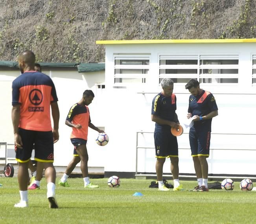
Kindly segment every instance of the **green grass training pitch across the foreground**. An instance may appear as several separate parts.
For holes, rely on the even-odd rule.
[[[100,187],[84,189],[82,178],[70,178],[71,187],[57,185],[59,209],[50,209],[43,178],[41,189],[29,191],[29,207],[15,208],[17,178],[2,177],[0,223],[256,223],[256,191],[243,192],[238,182],[233,191],[160,192],[149,188],[151,180],[121,179],[116,189],[107,186],[107,178],[91,181]],[[187,189],[197,185],[181,183]]]

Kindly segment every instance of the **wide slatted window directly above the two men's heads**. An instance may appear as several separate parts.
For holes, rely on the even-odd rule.
[[[200,83],[238,83],[238,55],[160,55],[159,83],[198,79]],[[256,77],[255,77],[256,78]]]

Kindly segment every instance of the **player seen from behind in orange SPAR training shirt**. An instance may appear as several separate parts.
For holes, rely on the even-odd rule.
[[[58,208],[55,199],[56,171],[53,166],[53,143],[59,140],[59,108],[55,86],[49,76],[35,72],[35,55],[32,51],[20,53],[18,65],[22,74],[12,84],[12,121],[19,165],[20,202],[14,207],[28,207],[28,162],[35,144],[35,160],[44,163],[49,206]]]

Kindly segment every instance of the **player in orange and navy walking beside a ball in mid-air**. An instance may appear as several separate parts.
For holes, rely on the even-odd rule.
[[[68,113],[65,124],[69,127],[72,127],[72,133],[70,140],[74,145],[74,157],[71,162],[68,164],[65,173],[62,178],[59,180],[58,184],[63,187],[69,187],[67,178],[72,173],[77,163],[81,161],[81,171],[83,174],[84,187],[85,188],[96,188],[98,185],[94,185],[90,182],[88,177],[88,152],[87,152],[87,135],[88,127],[93,130],[98,131],[99,133],[104,132],[103,130],[98,129],[91,123],[90,112],[88,105],[92,103],[94,98],[94,93],[92,90],[85,90],[83,92],[82,99],[74,104]]]

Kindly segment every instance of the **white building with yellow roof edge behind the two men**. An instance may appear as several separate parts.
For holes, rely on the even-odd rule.
[[[155,173],[152,99],[161,91],[162,78],[173,79],[177,114],[182,123],[190,95],[184,86],[195,78],[201,88],[214,94],[219,108],[219,116],[212,121],[209,174],[256,174],[256,39],[96,43],[106,48],[105,127],[110,142],[105,171]],[[178,137],[179,168],[180,174],[194,175],[188,132],[184,130]],[[169,164],[165,163],[164,173],[170,173]]]

